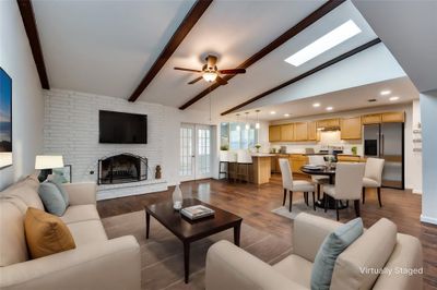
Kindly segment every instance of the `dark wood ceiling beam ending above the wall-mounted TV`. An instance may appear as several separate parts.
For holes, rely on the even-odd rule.
[[[144,92],[144,89],[149,86],[152,80],[156,76],[156,74],[161,71],[167,60],[172,57],[172,55],[176,51],[179,45],[182,43],[184,38],[188,35],[191,28],[196,25],[196,23],[203,15],[203,12],[206,11],[208,7],[212,3],[213,0],[197,0],[192,5],[190,11],[185,16],[184,21],[180,23],[179,27],[173,34],[172,38],[168,40],[167,45],[161,51],[160,57],[155,60],[152,68],[144,75],[141,83],[138,85],[135,90],[133,90],[132,95],[129,97],[129,101],[135,101],[140,95]]]

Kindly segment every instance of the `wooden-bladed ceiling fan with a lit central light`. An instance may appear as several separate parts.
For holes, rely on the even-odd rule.
[[[206,63],[203,64],[202,70],[192,70],[192,69],[185,69],[185,68],[175,68],[177,71],[186,71],[186,72],[194,72],[201,73],[202,75],[189,82],[189,85],[192,85],[200,80],[205,80],[209,83],[216,81],[220,85],[227,84],[227,81],[221,76],[221,74],[239,74],[246,73],[245,69],[229,69],[229,70],[217,70],[217,57],[209,55],[205,58]]]

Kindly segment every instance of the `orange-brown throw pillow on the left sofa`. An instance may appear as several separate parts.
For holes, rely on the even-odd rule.
[[[75,247],[63,221],[44,210],[28,207],[24,219],[27,247],[32,258],[44,257]]]

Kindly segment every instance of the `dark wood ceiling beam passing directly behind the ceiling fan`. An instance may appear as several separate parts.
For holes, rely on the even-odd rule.
[[[326,2],[323,5],[321,5],[316,11],[314,11],[311,14],[309,14],[304,20],[302,20],[299,23],[297,23],[295,26],[293,26],[292,28],[290,28],[288,31],[283,33],[280,37],[274,39],[268,46],[265,46],[260,51],[258,51],[257,53],[251,56],[249,59],[247,59],[245,62],[239,64],[237,68],[238,69],[247,69],[247,68],[249,68],[250,65],[252,65],[253,63],[256,63],[257,61],[259,61],[260,59],[262,59],[263,57],[265,57],[267,55],[269,55],[270,52],[272,52],[273,50],[275,50],[280,46],[282,46],[283,44],[288,41],[291,38],[293,38],[297,34],[299,34],[304,29],[306,29],[309,25],[311,25],[312,23],[317,22],[318,20],[323,17],[326,14],[328,14],[329,12],[331,12],[332,10],[338,8],[343,2],[345,2],[345,0],[330,0],[330,1]],[[226,81],[229,81],[234,76],[235,76],[235,74],[234,75],[226,75],[223,78],[225,78]],[[188,100],[186,104],[180,106],[179,109],[180,110],[187,109],[188,107],[190,107],[191,105],[193,105],[198,100],[202,99],[204,96],[210,94],[212,90],[214,90],[218,86],[220,85],[217,83],[214,83],[213,85],[209,86],[206,89],[204,89],[203,92],[201,92],[200,94],[198,94],[197,96],[194,96],[193,98]]]

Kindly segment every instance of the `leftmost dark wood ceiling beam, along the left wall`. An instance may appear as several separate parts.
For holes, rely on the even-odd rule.
[[[31,50],[36,64],[36,70],[38,71],[39,82],[43,88],[50,89],[32,2],[31,0],[16,0],[16,2],[19,4],[21,17],[23,19],[24,29],[26,31],[27,34],[28,44],[31,45]]]

